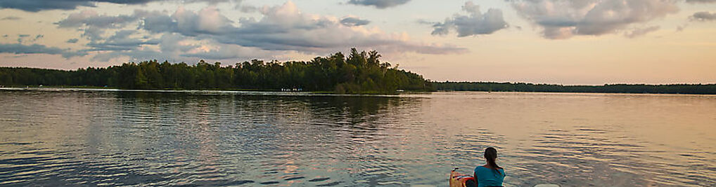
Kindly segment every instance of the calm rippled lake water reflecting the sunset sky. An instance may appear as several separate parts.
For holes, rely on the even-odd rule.
[[[716,186],[716,96],[0,91],[0,186]]]

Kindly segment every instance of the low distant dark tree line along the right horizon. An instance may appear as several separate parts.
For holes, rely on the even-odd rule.
[[[716,84],[604,84],[601,86],[566,86],[558,84],[527,84],[498,82],[433,82],[441,91],[528,91],[584,93],[683,93],[716,94]]]

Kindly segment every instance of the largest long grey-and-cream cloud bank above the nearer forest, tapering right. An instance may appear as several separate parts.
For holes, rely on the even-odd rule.
[[[119,56],[141,59],[162,55],[175,59],[239,59],[291,51],[326,54],[351,47],[384,53],[467,51],[458,46],[411,41],[405,33],[388,34],[369,28],[365,26],[369,21],[355,17],[304,14],[292,1],[263,6],[258,12],[261,19],[234,21],[215,6],[199,11],[180,7],[171,14],[136,10],[129,15],[107,16],[80,11],[56,24],[62,29],[83,31],[82,36],[89,42],[82,51],[97,52],[93,59],[102,61]],[[105,36],[110,31],[112,36]]]

